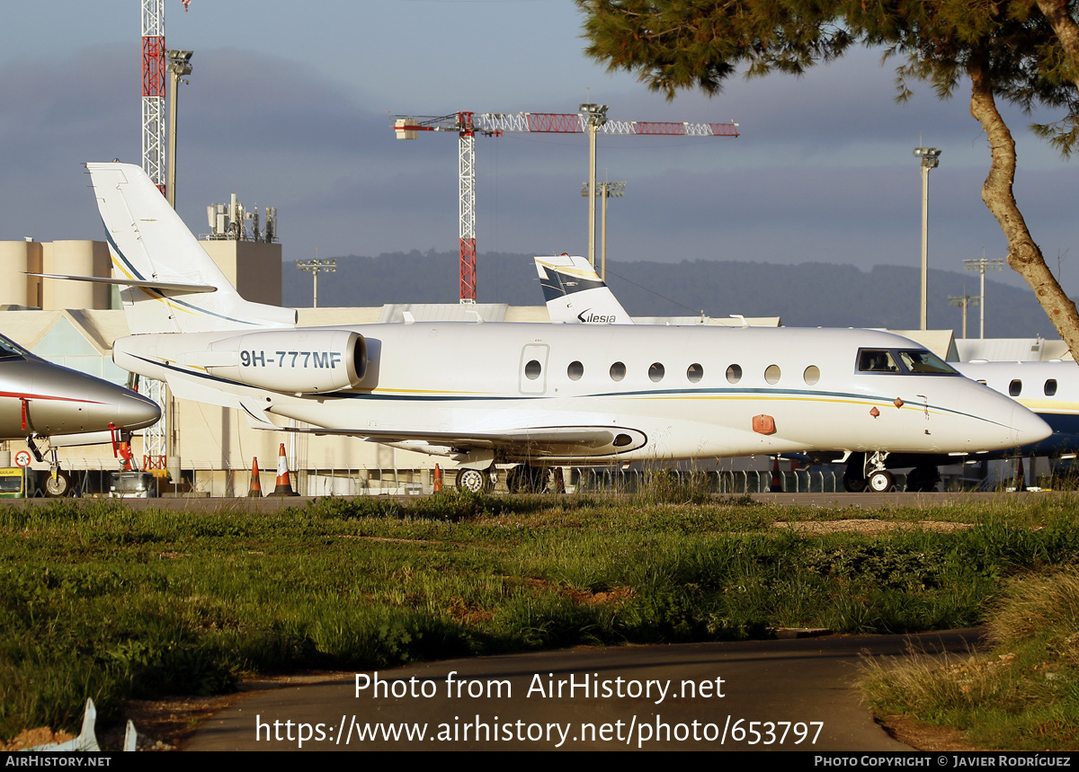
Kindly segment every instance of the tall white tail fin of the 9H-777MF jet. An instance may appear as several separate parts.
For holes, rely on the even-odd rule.
[[[112,256],[111,282],[124,286],[120,297],[133,333],[296,326],[295,309],[240,297],[141,168],[86,168]]]

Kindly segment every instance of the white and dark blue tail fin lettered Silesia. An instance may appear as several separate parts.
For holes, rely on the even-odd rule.
[[[547,314],[555,322],[632,325],[611,288],[585,258],[559,254],[535,258]]]

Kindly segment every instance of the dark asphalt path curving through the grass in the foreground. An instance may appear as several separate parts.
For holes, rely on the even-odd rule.
[[[378,681],[367,673],[256,692],[207,720],[186,749],[296,750],[303,737],[303,750],[907,750],[874,723],[852,686],[861,653],[897,656],[909,645],[965,652],[978,634],[575,648],[425,663],[378,673]],[[372,730],[377,740],[357,740]],[[422,731],[423,739],[385,739],[384,730]]]

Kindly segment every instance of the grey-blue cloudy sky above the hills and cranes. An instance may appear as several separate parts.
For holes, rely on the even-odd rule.
[[[100,238],[81,164],[140,163],[139,2],[40,0],[0,14],[0,239]],[[166,15],[167,46],[195,52],[180,89],[178,209],[204,233],[206,205],[230,193],[275,206],[286,260],[316,246],[323,258],[455,250],[456,137],[397,140],[391,114],[583,101],[616,119],[740,124],[737,139],[600,137],[600,176],[627,181],[610,204],[611,259],[917,266],[919,143],[943,150],[931,265],[1006,252],[981,201],[989,157],[966,93],[942,102],[919,86],[898,106],[879,52],[667,102],[584,56],[572,0],[192,0],[189,13],[166,0]],[[1077,294],[1075,162],[1010,115],[1020,207],[1054,271],[1065,256]],[[586,251],[584,137],[508,134],[478,138],[476,152],[480,252]],[[479,300],[498,300],[482,275]]]

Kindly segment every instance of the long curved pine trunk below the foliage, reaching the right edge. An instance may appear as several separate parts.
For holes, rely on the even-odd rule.
[[[1041,249],[1030,237],[1026,221],[1015,204],[1012,192],[1015,140],[997,111],[986,69],[984,61],[972,61],[969,66],[972,82],[970,114],[985,129],[993,153],[989,176],[982,187],[982,201],[1008,239],[1008,264],[1034,289],[1041,307],[1071,350],[1071,356],[1079,361],[1079,312],[1046,265]]]

